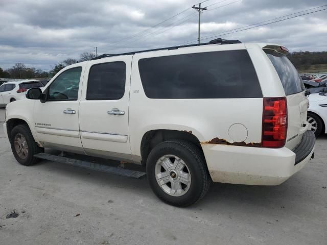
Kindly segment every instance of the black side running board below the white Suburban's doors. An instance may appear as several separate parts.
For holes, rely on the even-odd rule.
[[[34,157],[49,160],[49,161],[54,161],[54,162],[60,162],[71,166],[82,167],[90,170],[102,171],[108,174],[135,178],[135,179],[141,179],[146,176],[146,173],[141,171],[124,169],[121,167],[111,167],[99,163],[81,161],[81,160],[71,159],[67,157],[55,156],[47,153],[39,153],[34,155]]]

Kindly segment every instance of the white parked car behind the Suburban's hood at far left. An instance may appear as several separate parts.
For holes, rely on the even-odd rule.
[[[20,80],[6,82],[0,86],[0,106],[6,106],[10,102],[26,99],[26,92],[30,88],[44,87],[37,80]]]

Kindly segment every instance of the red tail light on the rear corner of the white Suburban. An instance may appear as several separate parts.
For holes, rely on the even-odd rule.
[[[286,143],[286,135],[286,97],[264,98],[262,116],[262,146],[267,148],[281,148]]]

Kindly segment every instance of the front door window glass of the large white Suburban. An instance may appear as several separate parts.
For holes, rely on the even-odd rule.
[[[76,101],[82,67],[66,70],[49,86],[48,101]]]

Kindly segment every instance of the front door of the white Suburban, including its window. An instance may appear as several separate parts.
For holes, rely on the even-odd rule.
[[[63,70],[44,90],[46,102],[35,102],[35,131],[45,147],[84,154],[78,118],[84,67]]]

